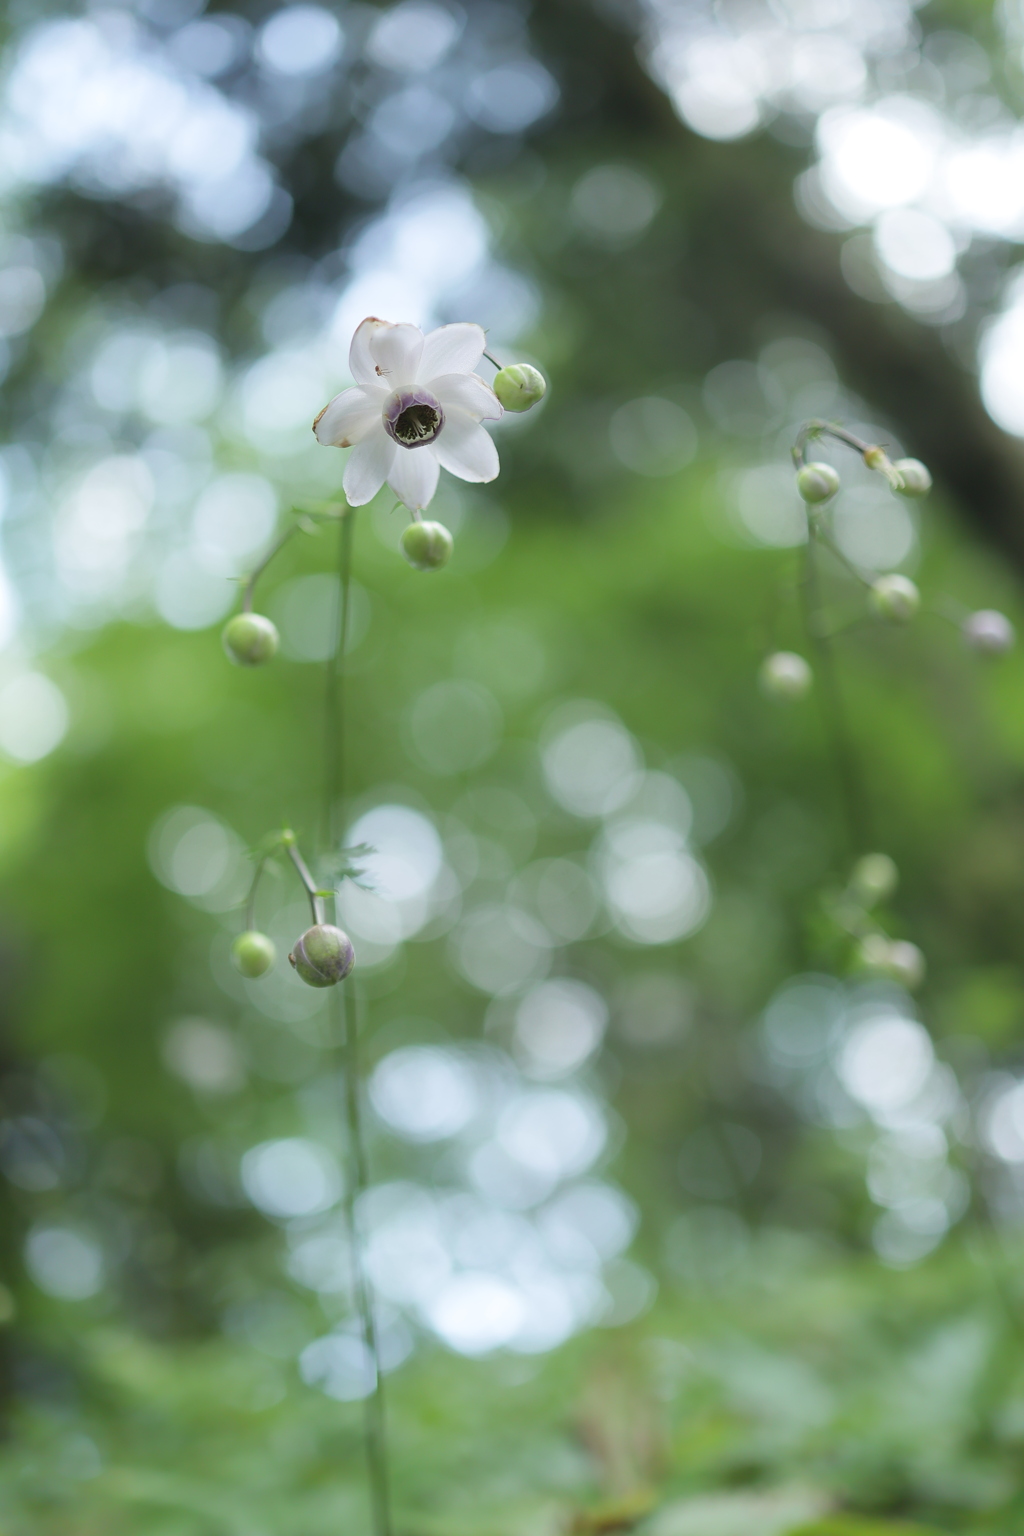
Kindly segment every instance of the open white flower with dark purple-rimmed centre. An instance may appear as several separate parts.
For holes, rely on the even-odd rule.
[[[425,507],[447,468],[459,479],[491,481],[497,449],[481,427],[502,407],[473,372],[484,355],[481,326],[418,326],[364,319],[348,352],[353,389],[335,395],[313,422],[316,441],[353,447],[342,485],[362,507],[388,482],[410,510]]]

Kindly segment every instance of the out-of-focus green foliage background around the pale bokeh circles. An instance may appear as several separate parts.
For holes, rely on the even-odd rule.
[[[213,14],[258,25],[269,9]],[[364,35],[375,12],[358,9]],[[996,49],[990,8],[932,11],[930,31],[976,29]],[[451,849],[476,849],[468,908],[525,902],[539,860],[594,862],[596,820],[557,803],[539,754],[554,711],[582,699],[614,711],[699,820],[708,782],[726,811],[695,839],[714,895],[699,931],[640,945],[596,920],[556,960],[557,975],[608,1001],[603,1049],[580,1081],[608,1106],[597,1167],[639,1207],[634,1281],[646,1275],[657,1299],[550,1353],[470,1361],[419,1330],[387,1381],[398,1530],[1016,1536],[1019,1195],[983,1121],[1021,1063],[1024,657],[967,651],[949,604],[998,607],[1024,627],[1019,453],[960,366],[964,329],[858,296],[838,240],[798,218],[798,134],[686,134],[637,63],[629,6],[545,0],[524,17],[508,32],[496,23],[497,41],[465,68],[493,63],[491,48],[504,57],[522,32],[559,77],[560,112],[527,143],[467,129],[445,174],[471,177],[496,253],[536,283],[540,307],[516,346],[551,393],[500,438],[494,487],[442,490],[434,511],[456,535],[442,573],[407,567],[402,516],[384,496],[356,516],[348,808],[355,819],[387,797],[411,805]],[[34,20],[11,8],[15,32]],[[367,1521],[362,1407],[296,1367],[310,1339],[347,1322],[348,1303],[293,1278],[279,1227],[238,1177],[243,1155],[273,1138],[313,1135],[344,1155],[338,1041],[322,1015],[287,1021],[259,1006],[229,966],[238,905],[169,889],[154,842],[170,808],[192,806],[246,848],[290,825],[312,857],[322,667],[286,644],[266,670],[232,668],[216,624],[172,630],[143,601],[66,622],[45,553],[68,476],[91,455],[152,447],[140,412],[111,421],[89,401],[97,336],[198,327],[241,373],[270,346],[275,301],[304,286],[336,298],[391,190],[362,195],[335,177],[379,86],[368,68],[353,78],[319,117],[282,109],[267,127],[295,198],[270,249],[189,240],[155,195],[54,184],[21,212],[57,233],[66,266],[12,353],[8,435],[34,445],[41,490],[31,516],[11,513],[5,550],[35,665],[66,697],[71,728],[38,763],[0,768],[3,1115],[37,1138],[34,1172],[3,1193],[5,1536],[319,1536]],[[633,244],[588,237],[567,214],[580,178],[606,163],[639,169],[660,198]],[[999,267],[1006,252],[989,258]],[[774,425],[745,436],[702,381],[751,358],[783,402]],[[823,379],[844,412],[906,436],[936,478],[915,513],[926,610],[912,627],[866,621],[860,584],[823,561],[869,846],[901,876],[880,915],[927,955],[920,1017],[960,1095],[947,1117],[947,1174],[963,1193],[949,1200],[953,1230],[906,1260],[872,1249],[884,1127],[829,1118],[806,1084],[771,1069],[765,1044],[766,1005],[794,977],[860,995],[829,903],[867,849],[851,840],[820,688],[780,707],[757,680],[768,651],[809,650],[803,553],[758,539],[737,513],[743,476],[786,465],[800,389]],[[699,441],[665,473],[646,473],[649,445],[614,450],[617,413],[651,395],[685,410]],[[333,450],[264,452],[230,413],[210,442],[218,472],[267,475],[286,501],[341,479]],[[852,456],[837,465],[860,495],[866,472]],[[743,484],[761,487],[755,511],[771,499],[769,481]],[[157,564],[187,539],[190,501],[178,511],[157,530]],[[336,565],[335,531],[321,528],[264,574],[258,607],[286,641]],[[499,722],[481,760],[456,771],[424,753],[415,723],[428,691],[451,682]],[[281,911],[298,934],[286,869],[261,891],[259,922]],[[666,1028],[660,1015],[637,1028],[651,977],[674,1000]],[[473,985],[450,925],[367,968],[364,988],[367,1071],[410,1043],[514,1051],[514,1005]],[[175,1068],[183,1020],[212,1028],[227,1052],[235,1075],[216,1091]],[[445,1189],[459,1177],[448,1147],[402,1141],[384,1117],[370,1137],[375,1181]],[[717,1181],[700,1189],[692,1149],[708,1146]],[[737,1155],[751,1146],[754,1158]],[[101,1249],[103,1284],[88,1295],[61,1299],[26,1269],[26,1235],[51,1223]]]

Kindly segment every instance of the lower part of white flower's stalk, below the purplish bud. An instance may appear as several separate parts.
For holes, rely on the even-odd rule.
[[[335,988],[336,1034],[342,1041],[344,1115],[348,1132],[348,1180],[345,1193],[345,1226],[352,1255],[352,1292],[362,1329],[362,1341],[370,1361],[373,1387],[365,1399],[364,1436],[370,1475],[370,1505],[375,1536],[391,1536],[391,1496],[387,1452],[387,1415],[384,1402],[384,1372],[378,1338],[373,1295],[362,1263],[362,1232],[359,1229],[359,1197],[368,1184],[367,1150],[362,1135],[359,1104],[359,1034],[364,1025],[364,997],[359,983],[353,986],[355,1006],[341,986]]]

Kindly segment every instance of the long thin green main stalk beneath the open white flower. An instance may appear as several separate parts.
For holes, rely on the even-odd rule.
[[[324,697],[324,805],[321,817],[321,842],[329,859],[338,854],[344,828],[345,802],[345,651],[348,645],[348,617],[352,596],[352,539],[355,510],[347,508],[338,530],[338,604],[335,619],[335,644],[325,667]],[[384,1404],[384,1373],[381,1349],[373,1310],[373,1296],[362,1263],[362,1233],[359,1230],[359,1195],[368,1184],[367,1149],[362,1135],[359,1104],[359,1034],[364,1026],[364,997],[359,982],[353,982],[355,1006],[345,997],[345,988],[332,992],[333,1038],[341,1041],[341,1077],[344,1081],[342,1114],[348,1141],[348,1178],[345,1180],[345,1226],[352,1263],[352,1290],[362,1339],[373,1370],[373,1390],[365,1399],[365,1455],[370,1478],[370,1505],[375,1536],[391,1536],[391,1501],[387,1455],[387,1416]]]

